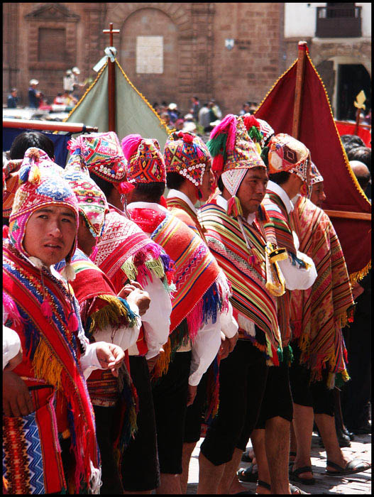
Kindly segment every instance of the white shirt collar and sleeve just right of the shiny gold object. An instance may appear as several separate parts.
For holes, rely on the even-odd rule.
[[[285,190],[273,181],[268,182],[268,190],[274,192],[280,197],[282,202],[285,204],[287,213],[290,214],[290,212],[294,209],[294,205]],[[280,212],[279,207],[275,204],[273,204],[273,209],[279,210]],[[314,262],[309,256],[307,256],[307,254],[298,250],[300,244],[295,231],[292,231],[292,236],[294,239],[297,258],[307,263],[309,267],[302,268],[297,263],[294,265],[292,264],[292,261],[290,261],[290,258],[287,258],[284,261],[279,261],[278,266],[280,267],[280,271],[282,271],[285,278],[285,286],[288,290],[307,290],[307,288],[310,288],[313,285],[317,278],[316,266],[314,266]]]

